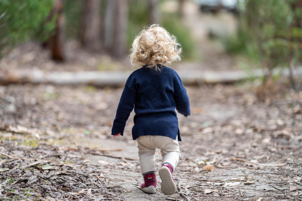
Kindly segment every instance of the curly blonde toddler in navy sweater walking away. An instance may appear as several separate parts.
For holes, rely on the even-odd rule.
[[[181,138],[175,108],[188,116],[190,105],[182,80],[165,65],[180,61],[181,51],[176,37],[156,24],[142,30],[132,44],[131,63],[141,68],[127,79],[111,134],[114,138],[123,135],[134,107],[132,137],[137,140],[140,169],[145,181],[140,189],[146,193],[156,191],[156,148],[162,154],[159,169],[162,193],[172,195],[176,192],[172,173],[180,156],[178,141]]]

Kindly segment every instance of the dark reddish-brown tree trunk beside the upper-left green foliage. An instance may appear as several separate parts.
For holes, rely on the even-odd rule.
[[[49,38],[48,42],[53,60],[64,61],[66,57],[64,51],[64,0],[56,0],[53,9],[57,14],[55,34]]]

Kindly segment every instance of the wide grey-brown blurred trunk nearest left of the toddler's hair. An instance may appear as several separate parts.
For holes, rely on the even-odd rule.
[[[104,19],[104,47],[115,58],[126,55],[128,0],[107,0]]]

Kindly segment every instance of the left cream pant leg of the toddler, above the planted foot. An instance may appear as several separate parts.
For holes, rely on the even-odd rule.
[[[156,149],[152,147],[150,138],[150,135],[137,138],[138,156],[140,158],[140,170],[142,174],[156,171],[154,162]]]

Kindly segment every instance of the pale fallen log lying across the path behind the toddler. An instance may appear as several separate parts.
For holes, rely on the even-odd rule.
[[[186,71],[176,70],[184,84],[203,83],[233,83],[251,77],[261,77],[264,72],[256,69],[246,71]],[[0,84],[33,83],[33,84],[56,84],[56,85],[93,85],[93,86],[122,86],[132,71],[52,71],[41,70],[0,70]],[[275,69],[274,74],[289,75],[289,70]],[[296,75],[302,75],[302,66],[296,68]]]

